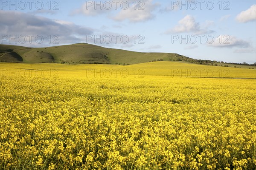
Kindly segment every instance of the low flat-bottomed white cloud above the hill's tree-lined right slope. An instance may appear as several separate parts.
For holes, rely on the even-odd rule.
[[[210,41],[210,40],[209,40]],[[214,42],[208,42],[209,46],[217,48],[247,48],[250,47],[250,43],[241,40],[235,36],[230,35],[220,35],[214,39]]]

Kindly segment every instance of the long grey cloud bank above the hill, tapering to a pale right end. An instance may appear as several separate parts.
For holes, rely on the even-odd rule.
[[[87,42],[106,47],[130,48],[139,42],[144,42],[142,35],[127,35],[104,31],[107,28],[92,29],[76,25],[64,20],[52,20],[46,17],[34,16],[18,11],[1,11],[1,43],[29,47],[55,46]],[[15,38],[15,40],[9,39]],[[36,36],[40,36],[38,41]],[[50,36],[50,42],[49,42]],[[19,37],[21,37],[20,40]],[[24,42],[24,37],[26,42]],[[31,37],[31,39],[29,39]],[[43,42],[41,42],[43,37]],[[23,43],[24,42],[24,43]]]

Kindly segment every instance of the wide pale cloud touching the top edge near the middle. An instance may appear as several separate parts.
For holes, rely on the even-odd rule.
[[[71,12],[74,14],[84,14],[87,16],[96,16],[100,14],[108,14],[112,20],[130,22],[143,22],[154,18],[153,11],[160,6],[153,3],[153,0],[136,0],[135,1],[87,1],[81,8]]]

